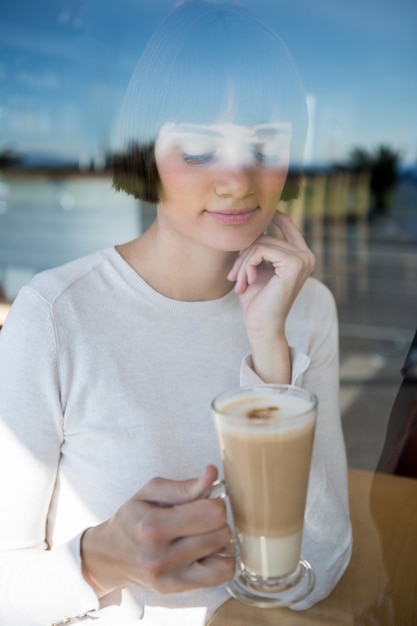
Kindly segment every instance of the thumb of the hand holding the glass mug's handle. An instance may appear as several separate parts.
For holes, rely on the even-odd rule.
[[[188,480],[155,478],[139,493],[141,499],[159,506],[185,504],[200,498],[207,498],[217,476],[217,468],[214,465],[207,465],[198,478]]]

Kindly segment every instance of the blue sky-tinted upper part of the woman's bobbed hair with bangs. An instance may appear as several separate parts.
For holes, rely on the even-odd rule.
[[[283,42],[241,6],[181,8],[161,25],[133,74],[119,147],[155,142],[166,123],[222,122],[289,122],[292,147],[303,144],[305,96]]]

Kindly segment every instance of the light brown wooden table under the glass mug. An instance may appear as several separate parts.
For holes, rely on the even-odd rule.
[[[230,599],[210,626],[417,626],[417,480],[349,470],[352,559],[308,611]]]

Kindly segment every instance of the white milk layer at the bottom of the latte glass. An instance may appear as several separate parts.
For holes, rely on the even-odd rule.
[[[300,559],[302,532],[269,539],[239,533],[240,559],[245,569],[262,578],[293,572]]]

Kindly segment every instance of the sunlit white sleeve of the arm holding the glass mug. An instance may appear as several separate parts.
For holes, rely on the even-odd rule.
[[[48,545],[63,416],[50,307],[23,288],[0,332],[0,623],[37,626],[98,608],[80,537]]]

